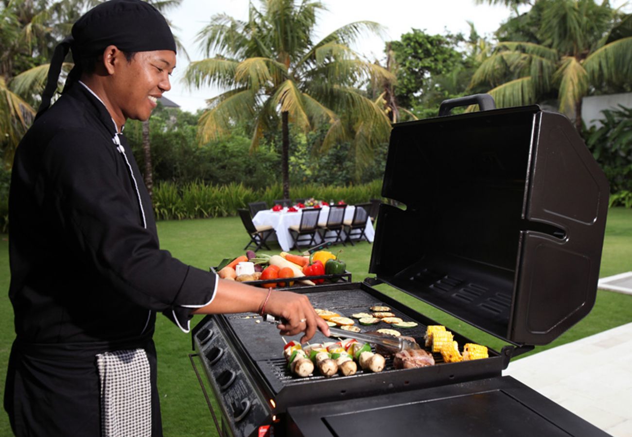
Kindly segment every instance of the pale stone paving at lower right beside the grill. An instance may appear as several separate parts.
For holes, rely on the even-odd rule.
[[[512,361],[502,374],[614,437],[632,437],[632,323]]]

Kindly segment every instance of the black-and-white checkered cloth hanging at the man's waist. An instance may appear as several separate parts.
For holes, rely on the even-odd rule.
[[[144,349],[97,354],[101,383],[101,434],[152,435],[152,388]]]

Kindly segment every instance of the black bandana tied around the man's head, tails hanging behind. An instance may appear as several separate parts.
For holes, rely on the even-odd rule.
[[[51,104],[68,49],[72,50],[76,64],[79,59],[102,54],[108,45],[116,45],[124,52],[176,52],[171,29],[154,6],[142,0],[109,0],[101,3],[79,18],[73,25],[72,36],[55,48],[37,115],[46,111]],[[75,66],[68,75],[67,85],[80,75],[81,71]]]

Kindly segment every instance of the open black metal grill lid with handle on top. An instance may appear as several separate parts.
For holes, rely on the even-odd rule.
[[[463,99],[440,113],[490,107]],[[405,208],[380,205],[369,271],[508,342],[547,344],[595,302],[608,195],[569,120],[536,105],[399,123],[382,196]]]

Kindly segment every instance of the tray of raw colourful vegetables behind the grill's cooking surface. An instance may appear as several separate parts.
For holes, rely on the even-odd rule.
[[[247,251],[232,260],[226,258],[210,270],[217,272],[222,279],[265,288],[286,289],[351,282],[351,273],[347,272],[346,263],[339,258],[340,252],[334,254],[320,249],[303,255],[287,252],[269,255]]]

